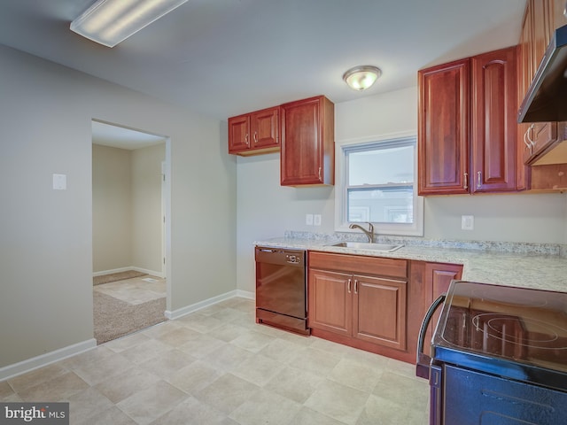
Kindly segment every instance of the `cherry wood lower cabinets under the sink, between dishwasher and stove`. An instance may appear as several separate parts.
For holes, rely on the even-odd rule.
[[[308,265],[312,335],[409,363],[425,312],[462,274],[455,264],[318,251]]]

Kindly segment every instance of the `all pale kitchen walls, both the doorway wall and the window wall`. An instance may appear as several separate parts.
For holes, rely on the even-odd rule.
[[[92,341],[93,119],[170,137],[170,311],[253,291],[255,239],[333,231],[333,188],[280,187],[278,154],[229,156],[226,122],[4,46],[0,62],[0,323],[10,323],[0,327],[0,372]],[[336,128],[337,140],[415,130],[416,89],[337,104]],[[66,190],[51,189],[54,173],[67,175]],[[565,242],[566,204],[565,195],[428,198],[425,236]],[[454,229],[464,211],[477,234]],[[322,227],[307,228],[306,213],[321,213]]]

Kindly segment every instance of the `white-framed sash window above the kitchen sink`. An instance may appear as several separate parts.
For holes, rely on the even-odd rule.
[[[370,221],[378,234],[423,236],[416,192],[416,136],[338,147],[336,230]]]

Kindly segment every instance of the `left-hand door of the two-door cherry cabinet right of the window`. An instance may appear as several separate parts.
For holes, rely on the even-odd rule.
[[[418,73],[418,191],[469,193],[470,59]]]

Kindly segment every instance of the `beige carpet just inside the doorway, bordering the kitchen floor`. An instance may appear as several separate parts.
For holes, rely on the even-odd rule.
[[[97,344],[167,321],[166,298],[132,305],[93,290],[93,305]]]

